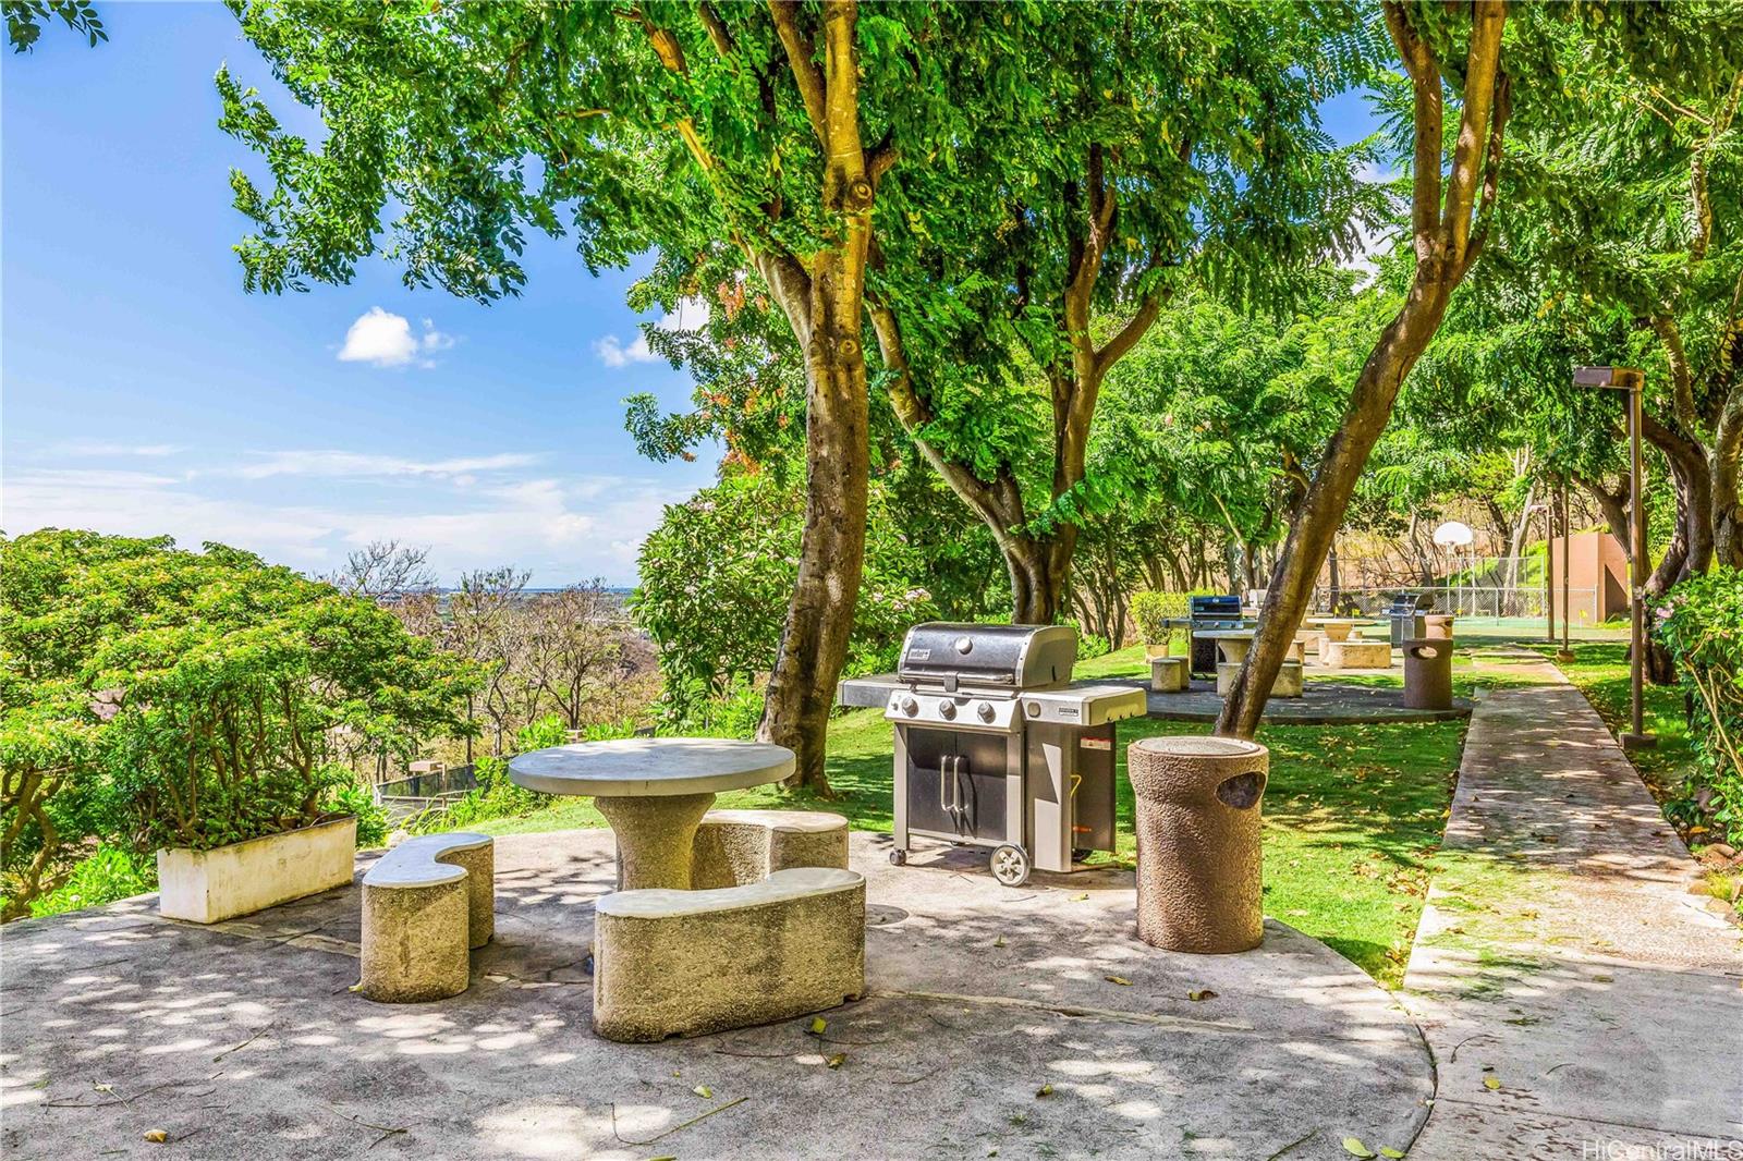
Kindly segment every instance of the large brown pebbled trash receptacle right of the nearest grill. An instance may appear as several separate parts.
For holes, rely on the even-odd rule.
[[[1265,934],[1260,804],[1271,751],[1238,737],[1143,737],[1136,798],[1138,938],[1170,952],[1245,952]]]

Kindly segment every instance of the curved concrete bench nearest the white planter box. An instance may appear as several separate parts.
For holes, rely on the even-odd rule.
[[[363,985],[385,1004],[458,995],[474,947],[497,929],[495,844],[453,832],[408,838],[363,877]]]

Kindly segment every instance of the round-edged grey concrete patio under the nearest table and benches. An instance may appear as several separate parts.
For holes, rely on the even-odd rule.
[[[1283,924],[1163,954],[1126,872],[1006,889],[976,849],[852,842],[872,992],[821,1034],[594,1037],[607,832],[498,840],[497,940],[436,1004],[350,992],[356,886],[216,927],[153,896],[9,926],[5,1154],[1299,1159],[1407,1149],[1428,1116],[1410,1018]]]

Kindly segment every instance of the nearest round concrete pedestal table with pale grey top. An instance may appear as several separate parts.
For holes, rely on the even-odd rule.
[[[591,795],[617,835],[617,886],[690,889],[695,826],[722,790],[777,783],[793,751],[727,737],[627,737],[516,755],[509,779],[547,795]]]

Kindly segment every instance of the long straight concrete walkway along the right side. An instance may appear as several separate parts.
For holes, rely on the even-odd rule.
[[[1743,1158],[1740,933],[1579,690],[1506,669],[1541,683],[1471,718],[1405,974],[1438,1070],[1410,1158]]]

